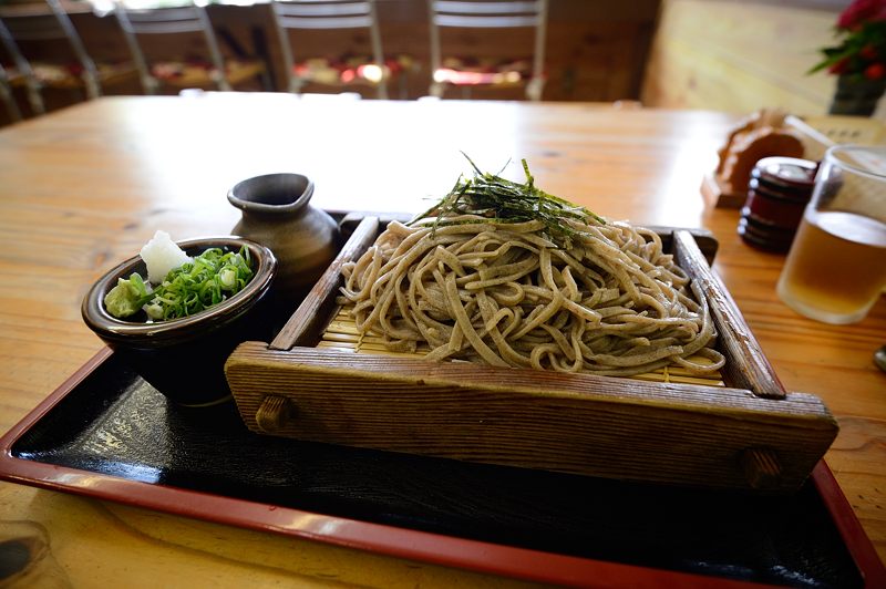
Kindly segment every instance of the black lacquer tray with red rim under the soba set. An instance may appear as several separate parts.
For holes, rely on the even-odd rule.
[[[167,404],[107,350],[2,444],[6,479],[536,580],[590,583],[595,571],[612,570],[626,586],[872,580],[838,529],[846,526],[835,510],[847,506],[823,495],[839,494],[823,463],[797,494],[767,496],[267,437],[246,430],[233,402]],[[337,536],[277,524],[291,513],[348,525]],[[528,567],[538,562],[550,567],[536,575]]]

